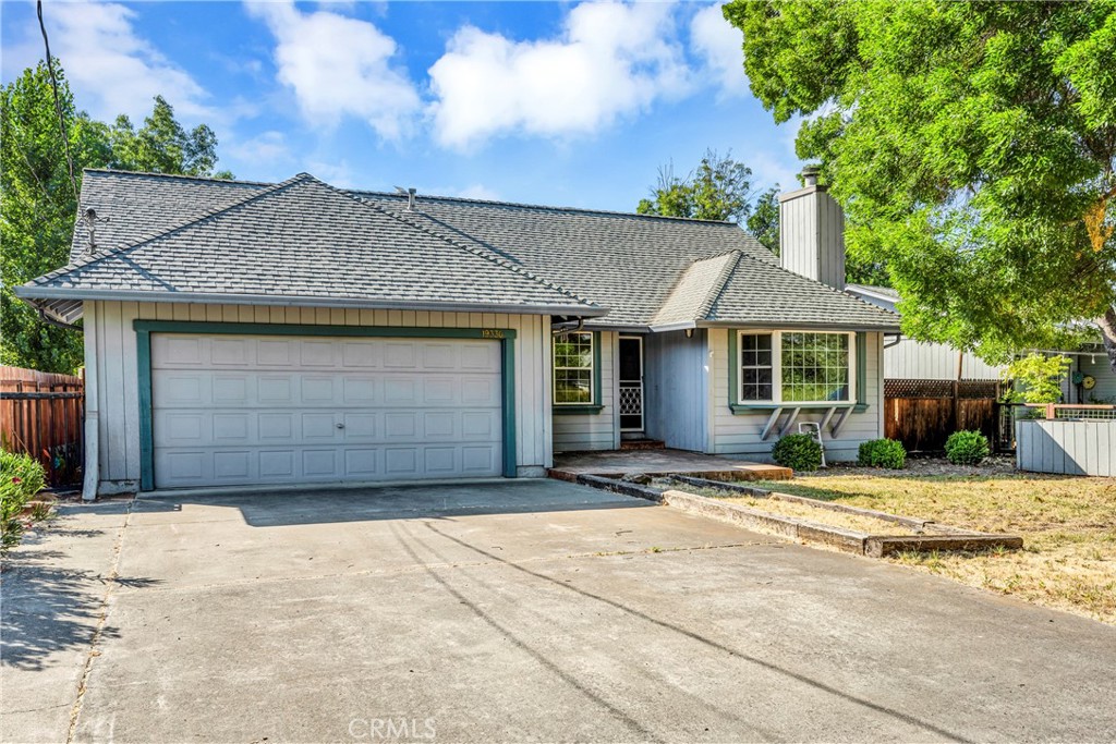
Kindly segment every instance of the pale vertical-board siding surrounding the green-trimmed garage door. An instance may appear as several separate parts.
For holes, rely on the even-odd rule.
[[[94,306],[94,307],[90,307]],[[135,491],[140,482],[140,394],[132,321],[298,323],[415,328],[506,328],[516,338],[516,452],[521,476],[552,464],[550,322],[543,316],[345,308],[254,307],[170,302],[86,302],[85,344],[95,349],[100,493]]]

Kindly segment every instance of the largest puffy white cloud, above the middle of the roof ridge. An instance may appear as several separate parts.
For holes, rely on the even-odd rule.
[[[673,7],[584,2],[559,38],[514,41],[461,28],[430,68],[434,134],[468,148],[498,134],[590,134],[690,90]]]

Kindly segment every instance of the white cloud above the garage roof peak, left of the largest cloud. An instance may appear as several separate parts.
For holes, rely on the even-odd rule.
[[[345,116],[398,138],[420,109],[406,74],[392,66],[395,40],[367,21],[336,12],[302,13],[290,2],[252,3],[276,37],[279,81],[295,93],[312,124],[335,126]]]

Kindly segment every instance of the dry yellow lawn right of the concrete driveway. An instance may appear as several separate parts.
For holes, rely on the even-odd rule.
[[[1020,551],[904,553],[889,560],[1116,624],[1116,479],[835,468],[825,475],[756,485],[971,530],[1019,534]]]

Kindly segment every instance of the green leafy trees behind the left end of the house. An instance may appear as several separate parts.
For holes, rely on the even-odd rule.
[[[96,122],[75,106],[57,60],[55,70],[77,190],[83,167],[213,175],[217,137],[208,126],[187,133],[161,96],[138,131],[123,116],[112,126]],[[0,91],[0,363],[71,373],[81,366],[80,331],[45,321],[11,290],[69,259],[77,194],[54,95],[45,62]]]

